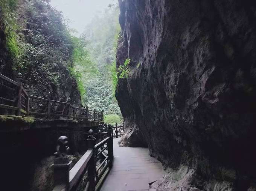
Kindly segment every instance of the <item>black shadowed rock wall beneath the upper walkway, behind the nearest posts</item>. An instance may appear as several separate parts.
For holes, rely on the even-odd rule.
[[[73,166],[88,148],[90,129],[97,132],[97,122],[35,119],[28,124],[0,119],[0,163],[4,174],[1,190],[52,191],[51,165],[58,138],[62,135],[69,138]],[[95,137],[99,142],[98,134]]]

